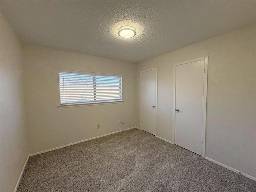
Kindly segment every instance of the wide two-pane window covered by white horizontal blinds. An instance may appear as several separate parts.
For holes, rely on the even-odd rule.
[[[122,76],[59,70],[60,105],[122,101]]]

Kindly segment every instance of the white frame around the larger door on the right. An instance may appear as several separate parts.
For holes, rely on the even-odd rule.
[[[207,100],[207,78],[208,78],[208,56],[200,57],[174,64],[173,71],[173,115],[172,115],[172,143],[175,144],[175,117],[176,108],[176,66],[192,62],[204,61],[204,96],[203,96],[203,121],[202,121],[202,158],[205,157],[205,133],[206,133],[206,100]]]

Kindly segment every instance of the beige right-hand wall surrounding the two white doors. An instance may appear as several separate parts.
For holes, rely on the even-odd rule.
[[[247,26],[140,62],[158,69],[157,135],[172,141],[173,64],[209,56],[206,157],[256,177],[256,26]]]

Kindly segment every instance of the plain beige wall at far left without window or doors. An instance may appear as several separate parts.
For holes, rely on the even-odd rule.
[[[22,45],[2,13],[0,18],[0,191],[11,192],[14,191],[29,150],[23,96]]]

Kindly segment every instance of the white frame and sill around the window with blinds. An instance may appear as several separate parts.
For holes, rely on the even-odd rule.
[[[113,100],[95,100],[94,101],[88,101],[88,102],[74,102],[74,103],[64,103],[61,104],[61,90],[60,90],[60,73],[74,73],[74,74],[86,74],[86,75],[93,75],[94,76],[94,91],[95,91],[95,86],[96,86],[96,78],[95,76],[112,76],[112,77],[120,77],[121,78],[121,98],[120,99],[113,99]],[[74,70],[58,70],[58,81],[59,81],[59,104],[58,107],[59,108],[63,108],[63,107],[76,107],[76,106],[90,106],[90,105],[100,105],[100,104],[113,104],[113,103],[122,103],[123,98],[122,98],[122,75],[118,75],[118,74],[105,74],[105,73],[92,73],[92,72],[83,72],[83,71],[74,71]],[[96,98],[96,92],[94,92],[94,98]]]

